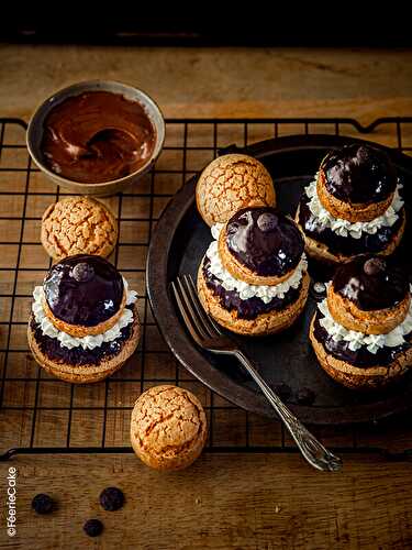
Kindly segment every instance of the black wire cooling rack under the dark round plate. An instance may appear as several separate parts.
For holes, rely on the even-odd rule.
[[[170,197],[230,144],[245,146],[290,134],[370,133],[372,141],[411,154],[412,118],[379,119],[367,127],[353,119],[169,119],[166,128],[164,151],[136,191],[102,199],[119,221],[119,243],[109,260],[140,294],[138,350],[104,382],[70,385],[41,370],[26,342],[31,293],[51,266],[40,243],[42,213],[65,194],[32,164],[25,122],[0,119],[0,460],[18,453],[132,452],[134,402],[147,387],[164,383],[186,387],[202,402],[210,426],[208,451],[296,451],[280,422],[248,414],[209,391],[166,348],[145,292],[152,232]],[[314,431],[341,452],[390,447],[393,452],[387,457],[411,458],[404,451],[412,447],[409,418]]]

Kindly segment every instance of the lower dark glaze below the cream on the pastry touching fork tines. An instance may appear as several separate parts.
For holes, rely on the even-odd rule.
[[[268,314],[269,311],[279,311],[293,304],[300,295],[301,286],[298,288],[292,288],[286,293],[283,298],[272,298],[267,304],[264,302],[257,296],[253,298],[247,298],[243,300],[236,290],[226,290],[223,288],[221,282],[209,271],[210,260],[204,256],[203,260],[203,276],[205,284],[212,290],[214,296],[220,300],[221,306],[227,311],[237,311],[237,317],[240,319],[256,319],[257,316],[261,314]]]

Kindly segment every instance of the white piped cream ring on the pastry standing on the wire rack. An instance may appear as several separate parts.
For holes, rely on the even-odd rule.
[[[124,289],[126,293],[126,305],[131,306],[137,300],[137,293],[135,290],[129,289],[129,284],[123,277]],[[124,308],[118,322],[109,330],[101,334],[87,336],[82,338],[71,337],[66,332],[56,329],[53,322],[46,316],[44,311],[44,290],[42,286],[36,286],[33,292],[34,301],[32,304],[32,311],[36,323],[40,326],[42,333],[49,338],[56,338],[63,348],[82,348],[83,350],[93,350],[99,348],[103,342],[112,342],[122,336],[122,329],[127,327],[133,322],[133,311],[131,309]]]

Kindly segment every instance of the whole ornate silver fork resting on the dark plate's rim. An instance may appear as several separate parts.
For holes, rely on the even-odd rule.
[[[315,469],[335,472],[342,468],[342,460],[332,454],[288,409],[276,393],[267,385],[250,361],[236,343],[222,333],[218,324],[205,315],[190,275],[178,277],[171,283],[179,311],[194,342],[212,353],[233,355],[246,369],[276,410],[279,418],[292,436],[301,453]]]

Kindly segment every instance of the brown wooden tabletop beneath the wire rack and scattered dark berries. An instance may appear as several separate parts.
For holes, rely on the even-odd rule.
[[[97,77],[147,90],[167,117],[353,117],[368,123],[378,117],[412,114],[412,53],[407,51],[1,45],[0,117],[27,119],[36,103],[55,89]],[[377,139],[386,143],[391,138],[383,131]],[[43,189],[41,180],[35,185]],[[2,216],[19,208],[13,198],[4,200],[2,197]],[[30,205],[34,216],[44,207],[42,198]],[[38,228],[35,221],[27,228],[31,241]],[[0,229],[13,238],[12,224]],[[127,239],[127,231],[144,237],[147,230],[130,227],[124,231]],[[143,260],[125,256],[123,262]],[[41,279],[46,257],[34,257],[29,251],[24,261],[38,266],[36,276]],[[0,273],[2,277],[5,272]],[[4,288],[9,283],[0,280]],[[27,292],[33,279],[19,284]],[[135,284],[142,290],[143,279],[137,277]],[[27,304],[22,300],[16,306],[16,319],[25,319]],[[175,372],[176,366],[165,359],[168,355],[163,355],[164,344],[154,324],[147,329],[145,345],[152,351],[146,367],[153,370],[154,378],[160,371]],[[27,375],[35,366],[24,355],[15,369]],[[185,373],[181,377],[204,405],[210,405],[210,396],[199,383]],[[137,380],[134,387],[118,384],[110,396],[114,404],[124,404],[125,411],[111,420],[112,440],[107,444],[127,444],[127,407],[141,389]],[[58,389],[42,394],[44,404],[52,397],[66,403],[68,385],[45,386]],[[99,389],[80,392],[86,402],[102,399]],[[30,402],[31,389],[24,386],[8,398],[12,404]],[[238,444],[244,413],[225,410],[223,400],[220,405],[218,444]],[[44,418],[45,429],[34,435],[35,444],[56,444],[59,422],[64,426],[58,415]],[[257,417],[250,422],[255,444],[267,443],[274,430],[279,430],[277,424]],[[71,433],[76,443],[92,444],[98,424],[92,415],[79,418]],[[30,429],[26,415],[0,410],[0,450],[27,444]],[[409,419],[385,428],[316,432],[327,444],[338,447],[412,447]],[[214,450],[187,471],[162,475],[132,454],[19,455],[0,464],[4,504],[0,548],[412,548],[411,464],[388,463],[376,452],[345,453],[344,460],[342,472],[325,474],[312,471],[294,453]],[[18,468],[18,535],[13,539],[7,537],[4,519],[10,466]],[[110,485],[121,487],[126,495],[124,508],[116,513],[104,513],[98,504],[100,491]],[[58,502],[54,514],[41,517],[31,510],[31,499],[40,492]],[[104,532],[97,539],[87,538],[81,529],[90,517],[104,522]]]

